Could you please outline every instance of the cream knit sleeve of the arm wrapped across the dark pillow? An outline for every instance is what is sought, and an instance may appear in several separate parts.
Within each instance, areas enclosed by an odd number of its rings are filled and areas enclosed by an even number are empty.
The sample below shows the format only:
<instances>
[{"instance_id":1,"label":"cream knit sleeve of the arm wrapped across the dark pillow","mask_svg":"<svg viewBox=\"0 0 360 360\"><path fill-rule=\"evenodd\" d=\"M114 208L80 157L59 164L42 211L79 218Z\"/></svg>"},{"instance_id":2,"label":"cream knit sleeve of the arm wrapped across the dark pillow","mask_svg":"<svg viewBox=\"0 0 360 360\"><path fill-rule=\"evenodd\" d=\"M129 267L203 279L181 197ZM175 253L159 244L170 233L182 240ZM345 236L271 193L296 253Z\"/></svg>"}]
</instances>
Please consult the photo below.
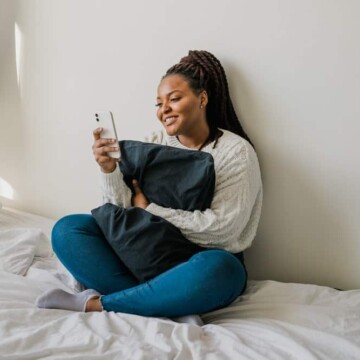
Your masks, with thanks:
<instances>
[{"instance_id":1,"label":"cream knit sleeve of the arm wrapped across the dark pillow","mask_svg":"<svg viewBox=\"0 0 360 360\"><path fill-rule=\"evenodd\" d=\"M246 154L242 151L231 158L227 155L221 161L209 209L190 212L151 203L146 210L168 220L187 239L200 246L242 251L247 245L239 244L239 238L253 213L256 199L261 197L257 159L252 159L251 154L248 156L247 149L243 150Z\"/></svg>"}]
</instances>

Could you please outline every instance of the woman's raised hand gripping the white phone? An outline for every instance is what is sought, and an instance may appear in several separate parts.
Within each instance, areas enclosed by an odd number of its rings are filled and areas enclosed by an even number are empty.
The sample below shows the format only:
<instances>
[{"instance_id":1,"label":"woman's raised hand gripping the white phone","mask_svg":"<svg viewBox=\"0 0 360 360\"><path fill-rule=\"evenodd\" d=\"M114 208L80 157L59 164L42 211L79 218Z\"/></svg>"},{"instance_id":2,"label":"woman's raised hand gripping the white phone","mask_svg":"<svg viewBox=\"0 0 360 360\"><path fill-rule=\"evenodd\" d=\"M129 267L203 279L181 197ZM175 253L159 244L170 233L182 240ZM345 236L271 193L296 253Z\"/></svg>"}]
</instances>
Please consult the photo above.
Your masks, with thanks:
<instances>
[{"instance_id":1,"label":"woman's raised hand gripping the white phone","mask_svg":"<svg viewBox=\"0 0 360 360\"><path fill-rule=\"evenodd\" d=\"M108 174L116 169L116 163L119 161L119 159L108 156L108 152L119 151L119 148L115 139L101 138L100 134L102 131L102 128L97 128L93 131L94 144L92 149L95 160L99 164L101 171Z\"/></svg>"}]
</instances>

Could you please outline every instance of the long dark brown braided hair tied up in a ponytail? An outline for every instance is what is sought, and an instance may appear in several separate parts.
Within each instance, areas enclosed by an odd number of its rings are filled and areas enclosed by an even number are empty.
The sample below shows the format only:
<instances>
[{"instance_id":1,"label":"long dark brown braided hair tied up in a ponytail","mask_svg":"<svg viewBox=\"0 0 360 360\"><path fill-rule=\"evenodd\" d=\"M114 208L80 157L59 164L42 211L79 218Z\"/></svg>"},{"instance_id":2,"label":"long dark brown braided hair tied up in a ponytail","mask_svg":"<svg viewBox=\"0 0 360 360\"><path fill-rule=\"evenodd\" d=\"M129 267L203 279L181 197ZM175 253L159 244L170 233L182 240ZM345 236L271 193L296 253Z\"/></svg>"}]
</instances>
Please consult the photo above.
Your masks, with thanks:
<instances>
[{"instance_id":1,"label":"long dark brown braided hair tied up in a ponytail","mask_svg":"<svg viewBox=\"0 0 360 360\"><path fill-rule=\"evenodd\" d=\"M216 146L222 135L219 128L240 135L253 145L235 113L224 68L214 55L208 51L190 50L178 64L167 70L163 79L169 75L184 77L197 95L204 90L207 92L206 119L210 133L203 146L214 140Z\"/></svg>"}]
</instances>

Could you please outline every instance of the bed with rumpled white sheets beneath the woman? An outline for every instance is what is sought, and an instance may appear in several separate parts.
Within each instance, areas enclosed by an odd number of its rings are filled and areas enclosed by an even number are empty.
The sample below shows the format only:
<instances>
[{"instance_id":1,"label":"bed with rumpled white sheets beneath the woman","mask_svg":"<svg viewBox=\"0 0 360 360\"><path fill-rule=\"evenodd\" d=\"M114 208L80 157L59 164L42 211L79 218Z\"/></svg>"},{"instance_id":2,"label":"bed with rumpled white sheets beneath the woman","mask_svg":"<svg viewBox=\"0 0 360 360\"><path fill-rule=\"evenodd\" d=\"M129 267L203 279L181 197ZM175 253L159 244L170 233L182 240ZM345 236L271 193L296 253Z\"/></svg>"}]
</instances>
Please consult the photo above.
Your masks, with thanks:
<instances>
[{"instance_id":1,"label":"bed with rumpled white sheets beneath the woman","mask_svg":"<svg viewBox=\"0 0 360 360\"><path fill-rule=\"evenodd\" d=\"M54 220L0 209L0 359L360 359L360 290L249 281L203 326L34 305L81 285L53 255Z\"/></svg>"}]
</instances>

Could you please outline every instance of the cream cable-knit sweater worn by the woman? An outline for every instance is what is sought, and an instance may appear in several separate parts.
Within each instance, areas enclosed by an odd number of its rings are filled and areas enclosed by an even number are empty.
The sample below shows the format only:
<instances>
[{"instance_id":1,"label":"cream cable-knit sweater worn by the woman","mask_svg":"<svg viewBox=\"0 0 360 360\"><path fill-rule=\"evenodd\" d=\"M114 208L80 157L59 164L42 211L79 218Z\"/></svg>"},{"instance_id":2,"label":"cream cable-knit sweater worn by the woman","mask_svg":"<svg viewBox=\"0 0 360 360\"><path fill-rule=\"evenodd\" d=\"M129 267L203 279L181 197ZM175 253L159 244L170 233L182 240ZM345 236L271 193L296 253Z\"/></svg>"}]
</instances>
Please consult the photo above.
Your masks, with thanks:
<instances>
[{"instance_id":1,"label":"cream cable-knit sweater worn by the woman","mask_svg":"<svg viewBox=\"0 0 360 360\"><path fill-rule=\"evenodd\" d=\"M210 143L202 149L214 158L216 182L211 208L184 211L151 203L146 210L168 220L199 246L237 253L248 248L255 237L261 213L262 183L252 146L240 136L222 131L215 148L214 143ZM175 136L162 131L153 133L145 141L188 149ZM119 167L111 174L101 174L104 203L131 206L131 191Z\"/></svg>"}]
</instances>

